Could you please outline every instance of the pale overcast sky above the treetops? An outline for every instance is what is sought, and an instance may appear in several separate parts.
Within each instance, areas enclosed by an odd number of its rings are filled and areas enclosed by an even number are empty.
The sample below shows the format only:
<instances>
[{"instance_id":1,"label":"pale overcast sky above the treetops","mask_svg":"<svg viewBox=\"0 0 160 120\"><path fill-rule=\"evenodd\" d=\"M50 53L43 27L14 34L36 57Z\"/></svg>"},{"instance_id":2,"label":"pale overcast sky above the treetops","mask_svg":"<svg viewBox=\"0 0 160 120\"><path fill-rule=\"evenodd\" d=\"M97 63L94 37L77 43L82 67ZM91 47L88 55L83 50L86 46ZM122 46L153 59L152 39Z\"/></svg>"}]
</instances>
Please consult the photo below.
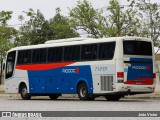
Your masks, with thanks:
<instances>
[{"instance_id":1,"label":"pale overcast sky above the treetops","mask_svg":"<svg viewBox=\"0 0 160 120\"><path fill-rule=\"evenodd\" d=\"M78 0L0 0L0 11L13 11L12 19L8 22L9 25L18 27L19 15L24 15L22 11L39 9L46 19L50 19L55 15L55 9L59 7L64 16L68 16L68 8L76 6ZM83 0L81 0L83 1ZM109 5L109 0L88 0L94 8L103 8ZM127 4L127 0L119 0L120 4ZM158 2L159 0L151 0Z\"/></svg>"}]
</instances>

